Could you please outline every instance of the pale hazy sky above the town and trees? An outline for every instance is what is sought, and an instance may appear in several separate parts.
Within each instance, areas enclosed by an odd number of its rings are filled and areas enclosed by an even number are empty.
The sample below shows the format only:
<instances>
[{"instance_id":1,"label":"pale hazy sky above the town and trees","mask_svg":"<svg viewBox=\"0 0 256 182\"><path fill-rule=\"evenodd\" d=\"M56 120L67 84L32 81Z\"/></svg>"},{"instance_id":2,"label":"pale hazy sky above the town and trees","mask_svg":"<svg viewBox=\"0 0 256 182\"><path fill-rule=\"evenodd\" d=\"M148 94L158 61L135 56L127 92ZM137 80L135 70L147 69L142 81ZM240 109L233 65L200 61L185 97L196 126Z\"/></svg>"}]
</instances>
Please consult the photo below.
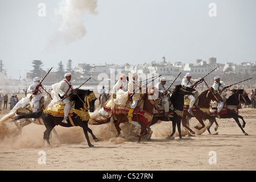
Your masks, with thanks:
<instances>
[{"instance_id":1,"label":"pale hazy sky above the town and trees","mask_svg":"<svg viewBox=\"0 0 256 182\"><path fill-rule=\"evenodd\" d=\"M42 60L43 69L55 71L60 60L66 68L68 59L73 67L142 64L163 56L171 63L208 63L209 57L217 57L217 63L256 61L255 0L98 0L94 13L76 22L86 34L72 32L80 35L69 43L56 33L65 29L60 2L0 0L0 60L9 77L24 78L32 60ZM38 15L39 3L44 3L46 16ZM210 3L216 4L217 16L209 16Z\"/></svg>"}]
</instances>

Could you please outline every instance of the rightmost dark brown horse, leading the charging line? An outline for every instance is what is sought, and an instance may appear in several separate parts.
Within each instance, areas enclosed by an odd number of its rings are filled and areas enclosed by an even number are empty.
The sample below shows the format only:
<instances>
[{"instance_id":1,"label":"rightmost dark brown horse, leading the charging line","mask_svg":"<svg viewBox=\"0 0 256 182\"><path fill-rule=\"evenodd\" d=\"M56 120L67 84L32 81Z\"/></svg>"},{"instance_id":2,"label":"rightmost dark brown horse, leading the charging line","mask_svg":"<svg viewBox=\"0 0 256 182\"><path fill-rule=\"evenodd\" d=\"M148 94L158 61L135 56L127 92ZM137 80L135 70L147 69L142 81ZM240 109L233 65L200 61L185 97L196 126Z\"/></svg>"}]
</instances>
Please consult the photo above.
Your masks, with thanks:
<instances>
[{"instance_id":1,"label":"rightmost dark brown horse, leading the charging line","mask_svg":"<svg viewBox=\"0 0 256 182\"><path fill-rule=\"evenodd\" d=\"M251 100L248 97L248 94L245 92L243 89L234 89L234 93L229 96L226 100L226 104L222 108L220 112L220 118L233 118L236 122L237 125L240 127L242 130L242 133L245 135L248 135L243 128L245 127L245 120L241 115L238 115L238 109L240 109L240 104L241 102L244 102L246 105L251 104ZM217 116L215 116L217 117ZM241 123L239 122L239 119L242 119L243 125L241 126ZM210 127L212 126L213 121L210 120L209 124L207 125L207 130L210 134Z\"/></svg>"}]
</instances>

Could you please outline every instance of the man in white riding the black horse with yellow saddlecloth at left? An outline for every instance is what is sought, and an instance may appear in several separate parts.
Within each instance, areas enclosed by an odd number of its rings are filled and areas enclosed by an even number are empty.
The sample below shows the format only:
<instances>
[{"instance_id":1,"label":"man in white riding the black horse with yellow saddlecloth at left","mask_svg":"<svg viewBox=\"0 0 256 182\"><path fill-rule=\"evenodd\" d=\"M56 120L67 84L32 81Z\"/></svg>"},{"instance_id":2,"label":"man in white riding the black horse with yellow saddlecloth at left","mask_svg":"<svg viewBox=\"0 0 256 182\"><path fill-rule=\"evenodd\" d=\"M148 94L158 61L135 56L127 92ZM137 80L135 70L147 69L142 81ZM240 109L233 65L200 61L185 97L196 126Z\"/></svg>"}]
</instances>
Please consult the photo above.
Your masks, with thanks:
<instances>
[{"instance_id":1,"label":"man in white riding the black horse with yellow saddlecloth at left","mask_svg":"<svg viewBox=\"0 0 256 182\"><path fill-rule=\"evenodd\" d=\"M60 98L65 98L63 100L64 106L64 119L63 123L68 123L67 118L68 118L68 113L71 108L71 102L69 100L69 94L73 92L73 86L71 85L71 73L65 73L65 79L61 80L59 82L59 85L57 87L57 92L59 93Z\"/></svg>"}]
</instances>

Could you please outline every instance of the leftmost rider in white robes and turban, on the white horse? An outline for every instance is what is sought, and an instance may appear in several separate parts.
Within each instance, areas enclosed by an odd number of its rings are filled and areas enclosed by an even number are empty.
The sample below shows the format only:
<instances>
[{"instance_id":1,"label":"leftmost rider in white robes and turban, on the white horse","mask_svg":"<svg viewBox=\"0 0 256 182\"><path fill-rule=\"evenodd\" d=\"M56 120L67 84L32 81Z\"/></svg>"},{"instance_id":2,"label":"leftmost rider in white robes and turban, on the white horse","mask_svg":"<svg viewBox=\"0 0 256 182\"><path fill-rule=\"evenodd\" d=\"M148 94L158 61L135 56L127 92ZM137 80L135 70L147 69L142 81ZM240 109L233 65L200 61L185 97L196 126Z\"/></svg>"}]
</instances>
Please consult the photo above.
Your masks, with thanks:
<instances>
[{"instance_id":1,"label":"leftmost rider in white robes and turban, on the white horse","mask_svg":"<svg viewBox=\"0 0 256 182\"><path fill-rule=\"evenodd\" d=\"M42 89L42 85L40 84L40 78L35 77L33 79L33 84L31 84L27 89L27 93L31 94L30 105L31 105L31 107L34 106L34 108L32 110L33 113L35 113L39 109L40 101L43 97L42 91L43 91L43 89ZM32 121L35 121L35 118L32 118Z\"/></svg>"}]
</instances>

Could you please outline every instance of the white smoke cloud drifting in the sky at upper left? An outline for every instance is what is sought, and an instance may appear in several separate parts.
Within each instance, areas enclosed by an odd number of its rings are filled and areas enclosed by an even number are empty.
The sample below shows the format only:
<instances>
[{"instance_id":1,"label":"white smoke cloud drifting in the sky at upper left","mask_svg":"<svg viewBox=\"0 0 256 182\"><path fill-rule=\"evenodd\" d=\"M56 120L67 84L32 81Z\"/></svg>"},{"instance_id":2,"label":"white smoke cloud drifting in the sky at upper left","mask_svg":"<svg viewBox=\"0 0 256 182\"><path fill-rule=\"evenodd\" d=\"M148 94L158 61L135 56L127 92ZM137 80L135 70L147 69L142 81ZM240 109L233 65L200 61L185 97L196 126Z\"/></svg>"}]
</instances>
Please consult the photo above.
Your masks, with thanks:
<instances>
[{"instance_id":1,"label":"white smoke cloud drifting in the sky at upper left","mask_svg":"<svg viewBox=\"0 0 256 182\"><path fill-rule=\"evenodd\" d=\"M51 36L47 48L70 44L86 34L82 17L86 12L97 15L97 0L63 0L55 14L61 16L61 25Z\"/></svg>"}]
</instances>

